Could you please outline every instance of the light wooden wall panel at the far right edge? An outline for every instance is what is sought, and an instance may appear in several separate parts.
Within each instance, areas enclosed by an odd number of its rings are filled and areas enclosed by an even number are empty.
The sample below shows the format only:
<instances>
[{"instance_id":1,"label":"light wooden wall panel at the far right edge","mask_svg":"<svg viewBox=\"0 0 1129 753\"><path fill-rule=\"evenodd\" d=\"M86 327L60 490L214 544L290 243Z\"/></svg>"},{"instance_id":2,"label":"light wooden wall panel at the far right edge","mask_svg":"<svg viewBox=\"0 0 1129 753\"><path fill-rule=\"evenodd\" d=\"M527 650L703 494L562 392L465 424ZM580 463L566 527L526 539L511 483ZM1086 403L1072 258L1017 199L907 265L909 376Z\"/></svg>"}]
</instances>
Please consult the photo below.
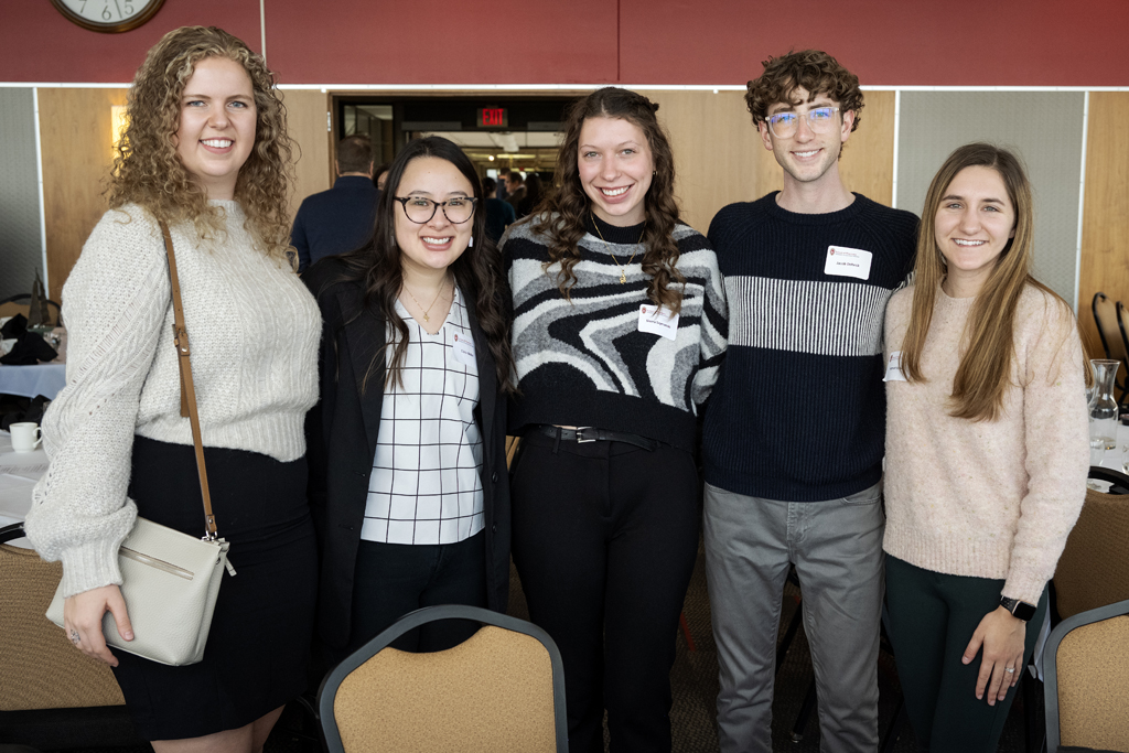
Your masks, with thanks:
<instances>
[{"instance_id":1,"label":"light wooden wall panel at the far right edge","mask_svg":"<svg viewBox=\"0 0 1129 753\"><path fill-rule=\"evenodd\" d=\"M1091 301L1097 291L1129 306L1129 91L1092 91L1082 218L1078 321L1091 358L1104 358ZM1124 375L1119 375L1124 376Z\"/></svg>"}]
</instances>

